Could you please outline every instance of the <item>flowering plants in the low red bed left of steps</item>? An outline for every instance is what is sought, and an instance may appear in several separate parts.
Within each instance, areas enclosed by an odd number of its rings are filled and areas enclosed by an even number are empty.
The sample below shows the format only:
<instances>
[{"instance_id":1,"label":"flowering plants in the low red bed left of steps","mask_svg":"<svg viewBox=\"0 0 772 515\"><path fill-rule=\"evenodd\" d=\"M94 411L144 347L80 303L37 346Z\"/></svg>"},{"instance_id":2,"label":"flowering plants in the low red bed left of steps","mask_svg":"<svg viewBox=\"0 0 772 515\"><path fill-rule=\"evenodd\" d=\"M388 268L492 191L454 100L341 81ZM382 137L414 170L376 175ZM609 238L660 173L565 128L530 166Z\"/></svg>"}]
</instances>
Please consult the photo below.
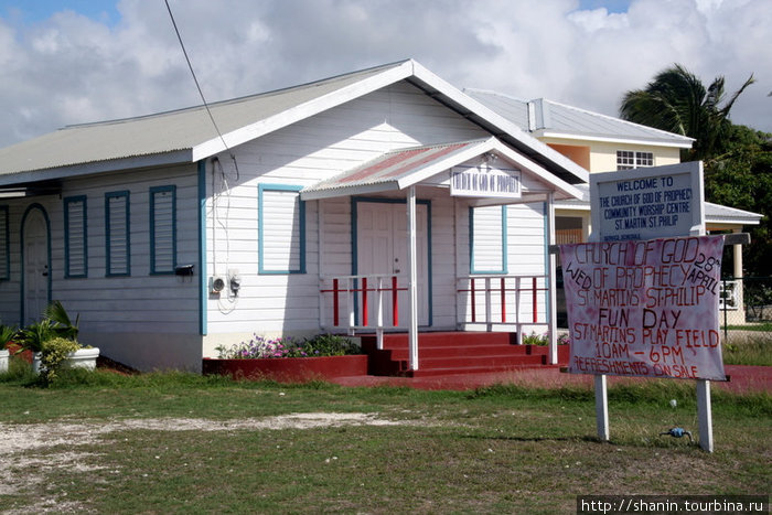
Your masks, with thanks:
<instances>
[{"instance_id":1,"label":"flowering plants in the low red bed left of steps","mask_svg":"<svg viewBox=\"0 0 772 515\"><path fill-rule=\"evenodd\" d=\"M321 357L360 354L351 341L332 334L319 334L298 342L291 337L269 340L258 334L248 342L215 347L219 360L254 360L265 357Z\"/></svg>"}]
</instances>

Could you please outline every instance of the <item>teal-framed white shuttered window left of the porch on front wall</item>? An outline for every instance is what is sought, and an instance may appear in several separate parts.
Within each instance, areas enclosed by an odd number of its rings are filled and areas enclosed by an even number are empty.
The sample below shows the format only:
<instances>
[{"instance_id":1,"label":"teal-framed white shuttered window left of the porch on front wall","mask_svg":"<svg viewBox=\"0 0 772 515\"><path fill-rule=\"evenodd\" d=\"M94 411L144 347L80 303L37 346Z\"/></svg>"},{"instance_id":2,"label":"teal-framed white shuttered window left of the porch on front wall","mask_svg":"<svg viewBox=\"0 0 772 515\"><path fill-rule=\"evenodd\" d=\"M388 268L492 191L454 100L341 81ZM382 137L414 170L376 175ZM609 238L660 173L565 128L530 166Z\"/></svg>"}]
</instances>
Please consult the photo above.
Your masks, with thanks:
<instances>
[{"instance_id":1,"label":"teal-framed white shuttered window left of the porch on front wall","mask_svg":"<svg viewBox=\"0 0 772 515\"><path fill-rule=\"evenodd\" d=\"M305 203L302 186L258 186L260 273L305 273Z\"/></svg>"}]
</instances>

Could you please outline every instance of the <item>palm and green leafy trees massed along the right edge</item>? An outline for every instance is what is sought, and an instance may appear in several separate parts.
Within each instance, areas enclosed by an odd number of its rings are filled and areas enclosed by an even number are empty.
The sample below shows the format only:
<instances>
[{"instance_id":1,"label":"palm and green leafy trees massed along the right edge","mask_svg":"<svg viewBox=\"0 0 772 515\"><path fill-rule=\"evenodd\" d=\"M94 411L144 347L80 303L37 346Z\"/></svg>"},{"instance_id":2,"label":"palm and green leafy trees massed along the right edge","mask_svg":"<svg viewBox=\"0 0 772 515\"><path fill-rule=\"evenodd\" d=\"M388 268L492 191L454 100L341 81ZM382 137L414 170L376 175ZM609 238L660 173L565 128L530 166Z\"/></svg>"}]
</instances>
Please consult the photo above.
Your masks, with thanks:
<instances>
[{"instance_id":1,"label":"palm and green leafy trees massed along the right edge","mask_svg":"<svg viewBox=\"0 0 772 515\"><path fill-rule=\"evenodd\" d=\"M699 77L675 64L655 75L644 89L625 93L620 116L695 139L682 160L705 162L706 200L763 215L759 226L747 227L751 246L743 249L743 268L748 275L772 276L772 135L736 126L729 119L735 101L753 82L751 75L726 98L722 76L706 87Z\"/></svg>"}]
</instances>

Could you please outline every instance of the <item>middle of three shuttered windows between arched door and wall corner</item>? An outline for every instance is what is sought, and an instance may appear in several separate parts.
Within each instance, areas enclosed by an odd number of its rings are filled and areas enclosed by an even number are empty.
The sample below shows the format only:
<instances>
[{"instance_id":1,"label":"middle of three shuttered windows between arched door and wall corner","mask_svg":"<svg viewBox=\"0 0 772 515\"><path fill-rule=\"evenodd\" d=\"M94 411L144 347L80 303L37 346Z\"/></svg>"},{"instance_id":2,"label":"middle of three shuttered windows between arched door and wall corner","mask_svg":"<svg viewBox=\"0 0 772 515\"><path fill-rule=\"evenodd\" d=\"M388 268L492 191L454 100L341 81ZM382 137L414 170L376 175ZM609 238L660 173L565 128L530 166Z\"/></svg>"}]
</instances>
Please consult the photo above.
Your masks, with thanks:
<instances>
[{"instance_id":1,"label":"middle of three shuttered windows between arched door and wall corner","mask_svg":"<svg viewBox=\"0 0 772 515\"><path fill-rule=\"evenodd\" d=\"M105 194L106 275L131 273L129 192Z\"/></svg>"}]
</instances>

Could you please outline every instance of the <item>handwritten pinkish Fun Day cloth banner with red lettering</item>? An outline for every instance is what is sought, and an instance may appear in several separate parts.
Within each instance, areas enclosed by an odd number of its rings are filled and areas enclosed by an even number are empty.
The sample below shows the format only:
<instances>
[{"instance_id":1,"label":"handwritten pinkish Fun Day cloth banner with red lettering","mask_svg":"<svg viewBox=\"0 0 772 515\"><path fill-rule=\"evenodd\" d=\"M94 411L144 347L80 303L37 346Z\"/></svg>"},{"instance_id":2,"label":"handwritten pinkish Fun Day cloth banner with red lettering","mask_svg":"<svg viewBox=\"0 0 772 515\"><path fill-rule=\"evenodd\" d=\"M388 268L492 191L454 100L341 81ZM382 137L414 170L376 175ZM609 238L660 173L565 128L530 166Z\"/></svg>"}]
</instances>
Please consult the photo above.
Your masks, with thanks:
<instances>
[{"instance_id":1,"label":"handwritten pinkish Fun Day cloth banner with red lettering","mask_svg":"<svg viewBox=\"0 0 772 515\"><path fill-rule=\"evenodd\" d=\"M560 246L575 374L726 380L722 236Z\"/></svg>"}]
</instances>

